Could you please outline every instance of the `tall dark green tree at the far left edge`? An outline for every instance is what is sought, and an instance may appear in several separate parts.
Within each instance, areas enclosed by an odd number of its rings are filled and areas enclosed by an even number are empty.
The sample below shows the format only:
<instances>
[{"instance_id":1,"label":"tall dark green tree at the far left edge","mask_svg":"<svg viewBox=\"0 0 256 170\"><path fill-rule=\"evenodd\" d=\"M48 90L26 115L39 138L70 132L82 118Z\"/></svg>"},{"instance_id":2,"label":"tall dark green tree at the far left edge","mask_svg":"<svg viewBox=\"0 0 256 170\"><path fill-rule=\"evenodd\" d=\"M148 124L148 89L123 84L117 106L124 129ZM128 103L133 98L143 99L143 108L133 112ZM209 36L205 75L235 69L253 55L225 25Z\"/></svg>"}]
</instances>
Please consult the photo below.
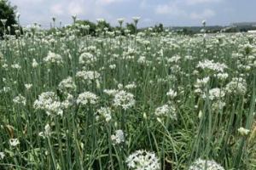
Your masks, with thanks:
<instances>
[{"instance_id":1,"label":"tall dark green tree at the far left edge","mask_svg":"<svg viewBox=\"0 0 256 170\"><path fill-rule=\"evenodd\" d=\"M11 33L14 34L15 30L13 25L17 24L15 18L16 6L11 6L9 0L0 0L0 20L7 20L5 27L10 26ZM3 36L3 22L0 21L0 35Z\"/></svg>"}]
</instances>

